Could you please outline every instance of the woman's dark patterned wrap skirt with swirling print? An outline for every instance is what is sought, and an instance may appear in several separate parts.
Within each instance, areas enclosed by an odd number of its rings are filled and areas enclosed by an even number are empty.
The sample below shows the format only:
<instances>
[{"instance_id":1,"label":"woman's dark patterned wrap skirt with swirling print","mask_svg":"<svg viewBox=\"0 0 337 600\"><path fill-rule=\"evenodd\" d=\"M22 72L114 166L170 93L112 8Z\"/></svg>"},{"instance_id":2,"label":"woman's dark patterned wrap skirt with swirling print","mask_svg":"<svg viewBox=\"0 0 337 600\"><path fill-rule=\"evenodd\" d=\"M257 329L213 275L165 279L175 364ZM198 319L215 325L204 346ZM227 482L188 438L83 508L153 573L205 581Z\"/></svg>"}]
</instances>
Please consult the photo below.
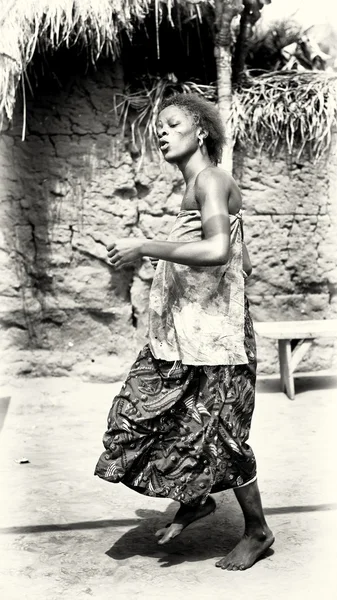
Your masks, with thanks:
<instances>
[{"instance_id":1,"label":"woman's dark patterned wrap skirt with swirling print","mask_svg":"<svg viewBox=\"0 0 337 600\"><path fill-rule=\"evenodd\" d=\"M247 444L256 346L245 306L245 365L196 367L138 355L108 415L95 475L186 504L256 478Z\"/></svg>"}]
</instances>

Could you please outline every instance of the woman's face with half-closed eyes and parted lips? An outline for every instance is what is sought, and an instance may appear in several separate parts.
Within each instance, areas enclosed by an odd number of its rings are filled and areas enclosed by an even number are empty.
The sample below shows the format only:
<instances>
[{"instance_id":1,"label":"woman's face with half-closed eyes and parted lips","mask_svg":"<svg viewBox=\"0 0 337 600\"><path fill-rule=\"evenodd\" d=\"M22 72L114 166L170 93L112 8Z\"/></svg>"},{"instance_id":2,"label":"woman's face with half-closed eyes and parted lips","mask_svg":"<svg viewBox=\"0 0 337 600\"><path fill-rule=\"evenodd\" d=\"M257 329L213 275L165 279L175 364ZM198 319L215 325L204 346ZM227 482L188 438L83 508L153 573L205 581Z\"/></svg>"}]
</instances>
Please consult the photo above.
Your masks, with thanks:
<instances>
[{"instance_id":1,"label":"woman's face with half-closed eyes and parted lips","mask_svg":"<svg viewBox=\"0 0 337 600\"><path fill-rule=\"evenodd\" d=\"M179 163L198 148L198 131L193 116L178 106L167 106L159 114L157 136L161 152L169 163Z\"/></svg>"}]
</instances>

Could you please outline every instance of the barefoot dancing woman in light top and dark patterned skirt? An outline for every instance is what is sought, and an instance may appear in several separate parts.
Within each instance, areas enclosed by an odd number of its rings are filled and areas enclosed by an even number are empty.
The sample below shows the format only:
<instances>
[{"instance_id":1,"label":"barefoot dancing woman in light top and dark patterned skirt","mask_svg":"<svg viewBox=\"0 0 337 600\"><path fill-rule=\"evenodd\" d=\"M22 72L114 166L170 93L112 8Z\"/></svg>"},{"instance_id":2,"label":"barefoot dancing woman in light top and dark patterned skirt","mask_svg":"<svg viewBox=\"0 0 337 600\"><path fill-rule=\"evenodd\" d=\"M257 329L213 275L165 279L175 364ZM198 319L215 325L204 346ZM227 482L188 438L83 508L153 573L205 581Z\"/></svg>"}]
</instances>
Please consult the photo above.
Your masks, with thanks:
<instances>
[{"instance_id":1,"label":"barefoot dancing woman in light top and dark patterned skirt","mask_svg":"<svg viewBox=\"0 0 337 600\"><path fill-rule=\"evenodd\" d=\"M144 256L158 264L149 343L114 399L95 474L180 502L173 522L157 532L159 544L213 512L211 492L233 489L245 532L217 566L244 570L274 538L247 444L256 351L244 296L250 263L241 194L217 166L224 135L211 103L193 94L166 99L157 135L186 189L168 241L123 238L108 246L116 269Z\"/></svg>"}]
</instances>

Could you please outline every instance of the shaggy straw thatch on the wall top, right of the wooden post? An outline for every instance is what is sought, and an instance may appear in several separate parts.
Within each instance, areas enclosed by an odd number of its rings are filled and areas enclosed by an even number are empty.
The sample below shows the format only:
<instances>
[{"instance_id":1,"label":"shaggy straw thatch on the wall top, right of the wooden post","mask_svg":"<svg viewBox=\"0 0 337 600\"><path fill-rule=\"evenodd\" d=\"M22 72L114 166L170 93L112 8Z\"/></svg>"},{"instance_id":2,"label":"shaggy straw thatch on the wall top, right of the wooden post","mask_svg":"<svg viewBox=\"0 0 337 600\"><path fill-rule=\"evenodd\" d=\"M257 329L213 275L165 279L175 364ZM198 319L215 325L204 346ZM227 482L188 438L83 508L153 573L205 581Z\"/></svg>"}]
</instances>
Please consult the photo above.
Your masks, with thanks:
<instances>
[{"instance_id":1,"label":"shaggy straw thatch on the wall top, right of the wooden post","mask_svg":"<svg viewBox=\"0 0 337 600\"><path fill-rule=\"evenodd\" d=\"M233 95L233 129L243 146L285 148L314 161L329 148L337 125L337 74L322 71L266 73Z\"/></svg>"}]
</instances>

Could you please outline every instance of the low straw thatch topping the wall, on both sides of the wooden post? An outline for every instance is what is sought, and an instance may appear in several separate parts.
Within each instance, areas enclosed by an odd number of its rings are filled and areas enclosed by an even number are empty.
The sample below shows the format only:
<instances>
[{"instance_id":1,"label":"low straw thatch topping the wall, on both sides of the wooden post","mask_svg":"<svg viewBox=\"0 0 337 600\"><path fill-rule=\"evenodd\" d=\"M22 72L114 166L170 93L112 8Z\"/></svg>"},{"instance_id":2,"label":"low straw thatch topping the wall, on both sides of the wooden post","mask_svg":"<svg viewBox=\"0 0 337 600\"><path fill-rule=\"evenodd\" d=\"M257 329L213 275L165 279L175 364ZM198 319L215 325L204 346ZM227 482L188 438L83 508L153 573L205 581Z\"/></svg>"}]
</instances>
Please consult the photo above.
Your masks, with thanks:
<instances>
[{"instance_id":1,"label":"low straw thatch topping the wall, on both sides of the wooden post","mask_svg":"<svg viewBox=\"0 0 337 600\"><path fill-rule=\"evenodd\" d=\"M234 143L275 152L286 149L299 159L304 151L317 161L329 148L337 125L337 75L321 71L272 72L248 80L233 93ZM215 85L179 82L173 74L141 82L139 89L116 97L116 111L141 156L156 150L156 120L163 98L174 92L197 93L216 101Z\"/></svg>"}]
</instances>

